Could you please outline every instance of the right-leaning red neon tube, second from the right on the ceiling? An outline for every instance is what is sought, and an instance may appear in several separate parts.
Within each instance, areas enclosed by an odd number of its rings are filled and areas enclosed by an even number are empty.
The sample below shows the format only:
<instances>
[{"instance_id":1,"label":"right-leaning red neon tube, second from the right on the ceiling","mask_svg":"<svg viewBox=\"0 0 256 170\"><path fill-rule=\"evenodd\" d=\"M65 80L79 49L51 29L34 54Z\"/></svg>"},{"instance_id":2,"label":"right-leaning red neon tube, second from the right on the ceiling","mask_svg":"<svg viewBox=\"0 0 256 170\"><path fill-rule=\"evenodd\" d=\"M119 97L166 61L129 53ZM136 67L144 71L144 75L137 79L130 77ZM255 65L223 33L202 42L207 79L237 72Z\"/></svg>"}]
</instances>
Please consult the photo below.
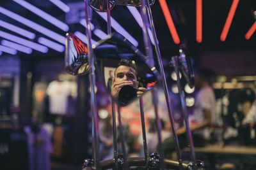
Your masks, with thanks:
<instances>
[{"instance_id":1,"label":"right-leaning red neon tube, second from the right on the ceiling","mask_svg":"<svg viewBox=\"0 0 256 170\"><path fill-rule=\"evenodd\" d=\"M233 0L233 2L232 2L230 11L228 13L227 20L226 20L225 25L223 27L223 30L221 32L221 36L220 36L220 40L221 41L225 41L226 38L227 38L228 30L229 30L231 22L232 22L232 20L234 18L234 15L235 15L238 3L239 3L239 0Z\"/></svg>"}]
</instances>

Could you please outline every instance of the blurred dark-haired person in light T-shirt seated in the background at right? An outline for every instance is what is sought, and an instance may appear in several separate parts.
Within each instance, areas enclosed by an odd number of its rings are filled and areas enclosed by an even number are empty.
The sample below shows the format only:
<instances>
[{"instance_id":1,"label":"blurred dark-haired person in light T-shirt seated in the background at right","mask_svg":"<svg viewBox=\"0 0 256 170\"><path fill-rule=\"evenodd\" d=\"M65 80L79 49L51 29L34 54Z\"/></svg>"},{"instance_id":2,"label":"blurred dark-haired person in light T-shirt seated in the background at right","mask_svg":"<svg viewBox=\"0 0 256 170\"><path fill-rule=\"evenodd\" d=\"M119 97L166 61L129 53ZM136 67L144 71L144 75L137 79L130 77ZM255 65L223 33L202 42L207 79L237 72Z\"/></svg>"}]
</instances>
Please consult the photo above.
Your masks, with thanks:
<instances>
[{"instance_id":1,"label":"blurred dark-haired person in light T-shirt seated in the background at right","mask_svg":"<svg viewBox=\"0 0 256 170\"><path fill-rule=\"evenodd\" d=\"M195 97L195 108L193 114L189 116L189 127L192 131L195 146L205 146L211 139L211 122L214 117L215 95L211 87L215 74L211 69L200 68L195 71L195 88L198 90ZM186 138L186 128L177 130L180 148L188 146ZM164 154L172 158L175 152L175 142L173 136L163 142Z\"/></svg>"}]
</instances>

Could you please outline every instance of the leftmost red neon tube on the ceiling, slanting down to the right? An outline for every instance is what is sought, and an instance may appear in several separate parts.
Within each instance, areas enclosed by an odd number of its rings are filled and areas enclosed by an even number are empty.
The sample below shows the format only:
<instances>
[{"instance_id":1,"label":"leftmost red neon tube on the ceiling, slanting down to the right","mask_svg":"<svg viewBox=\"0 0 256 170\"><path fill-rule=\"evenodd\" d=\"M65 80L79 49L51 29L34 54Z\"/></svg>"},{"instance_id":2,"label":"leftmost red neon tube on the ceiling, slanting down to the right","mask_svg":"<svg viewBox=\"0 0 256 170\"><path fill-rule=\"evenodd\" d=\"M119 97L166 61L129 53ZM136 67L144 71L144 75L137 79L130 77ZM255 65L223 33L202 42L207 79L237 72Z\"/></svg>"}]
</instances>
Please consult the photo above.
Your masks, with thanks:
<instances>
[{"instance_id":1,"label":"leftmost red neon tube on the ceiling, slanting down to the right","mask_svg":"<svg viewBox=\"0 0 256 170\"><path fill-rule=\"evenodd\" d=\"M171 16L171 13L168 9L166 1L165 0L159 0L159 3L160 3L160 6L162 8L162 11L164 13L164 18L166 20L166 23L169 27L169 30L170 30L171 34L172 34L173 41L174 41L175 44L179 44L180 43L180 38L179 38L178 33L175 29L175 25L173 23L172 16Z\"/></svg>"}]
</instances>

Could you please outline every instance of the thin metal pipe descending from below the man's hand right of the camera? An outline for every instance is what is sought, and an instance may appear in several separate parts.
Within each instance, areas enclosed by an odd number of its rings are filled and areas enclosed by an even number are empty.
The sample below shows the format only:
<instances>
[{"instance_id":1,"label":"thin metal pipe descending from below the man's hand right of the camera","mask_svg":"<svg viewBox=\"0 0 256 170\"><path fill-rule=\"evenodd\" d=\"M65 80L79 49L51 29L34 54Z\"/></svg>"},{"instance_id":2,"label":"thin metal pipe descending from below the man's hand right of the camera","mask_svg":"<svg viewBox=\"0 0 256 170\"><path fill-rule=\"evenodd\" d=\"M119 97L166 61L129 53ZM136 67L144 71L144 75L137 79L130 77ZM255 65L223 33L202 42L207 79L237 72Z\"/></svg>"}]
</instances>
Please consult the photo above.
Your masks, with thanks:
<instances>
[{"instance_id":1,"label":"thin metal pipe descending from below the man's hand right of the camera","mask_svg":"<svg viewBox=\"0 0 256 170\"><path fill-rule=\"evenodd\" d=\"M145 117L144 117L142 96L140 97L140 117L141 117L141 127L142 127L145 164L146 164L146 168L148 169L148 148L147 148L147 136L146 136Z\"/></svg>"}]
</instances>

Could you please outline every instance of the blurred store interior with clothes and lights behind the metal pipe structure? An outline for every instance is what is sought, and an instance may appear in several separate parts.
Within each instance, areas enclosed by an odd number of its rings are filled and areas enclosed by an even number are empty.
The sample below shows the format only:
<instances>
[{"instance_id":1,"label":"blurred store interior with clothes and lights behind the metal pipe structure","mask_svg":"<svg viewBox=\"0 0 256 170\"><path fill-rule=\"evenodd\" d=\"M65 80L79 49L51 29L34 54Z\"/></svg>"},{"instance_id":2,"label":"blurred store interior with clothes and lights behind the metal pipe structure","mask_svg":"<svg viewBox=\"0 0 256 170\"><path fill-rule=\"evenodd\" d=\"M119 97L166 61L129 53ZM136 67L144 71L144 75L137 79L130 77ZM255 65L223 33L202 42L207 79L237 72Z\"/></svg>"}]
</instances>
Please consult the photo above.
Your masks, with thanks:
<instances>
[{"instance_id":1,"label":"blurred store interior with clothes and lights behind the metal pipe structure","mask_svg":"<svg viewBox=\"0 0 256 170\"><path fill-rule=\"evenodd\" d=\"M156 147L159 146L153 100L156 96L163 146L166 144L164 139L173 138L172 120L177 131L184 126L184 103L180 99L179 80L188 115L193 115L196 109L196 96L200 89L195 85L189 87L182 71L177 79L172 62L173 56L180 55L180 45L185 45L193 73L199 68L214 73L211 80L215 101L214 117L209 125L211 138L204 146L194 143L196 160L204 161L205 169L253 169L256 166L256 1L172 0L166 1L165 11L162 9L163 1L150 1L150 9L172 118L168 114L166 91L161 81L163 77L157 79L161 67L157 65L159 60L152 30L148 31L151 35L148 41L152 45L154 61L148 64L143 58L136 60L139 87L148 87L142 97L148 155L157 151ZM95 127L91 77L89 73L70 74L65 59L68 48L65 36L68 32L74 33L84 45L88 43L84 2L0 2L0 169L75 170L83 169L84 160L93 159L96 144L93 142ZM112 33L124 36L127 39L125 45L136 55L147 56L141 8L110 2ZM198 14L200 2L201 15ZM174 27L168 25L170 18L165 18L167 11ZM113 39L107 36L107 13L91 7L88 13L92 23L91 43L100 47L108 43L102 39L112 42ZM200 16L201 34L198 29ZM115 73L117 59L122 58L116 58L117 51L129 55L130 51L125 51L128 49L125 45L98 48L98 51L96 48L93 51L99 161L114 157L113 110L108 79L111 78L111 71ZM156 66L157 74L149 67L152 63ZM156 96L151 93L153 89L157 92ZM127 157L145 157L139 98L122 106L120 112ZM116 117L117 127L118 121ZM124 153L120 136L117 135L118 153ZM177 138L181 143L188 141L179 134ZM185 163L191 161L191 150L187 144L180 148ZM166 159L178 161L177 151L164 152ZM145 166L133 168L147 169Z\"/></svg>"}]
</instances>

